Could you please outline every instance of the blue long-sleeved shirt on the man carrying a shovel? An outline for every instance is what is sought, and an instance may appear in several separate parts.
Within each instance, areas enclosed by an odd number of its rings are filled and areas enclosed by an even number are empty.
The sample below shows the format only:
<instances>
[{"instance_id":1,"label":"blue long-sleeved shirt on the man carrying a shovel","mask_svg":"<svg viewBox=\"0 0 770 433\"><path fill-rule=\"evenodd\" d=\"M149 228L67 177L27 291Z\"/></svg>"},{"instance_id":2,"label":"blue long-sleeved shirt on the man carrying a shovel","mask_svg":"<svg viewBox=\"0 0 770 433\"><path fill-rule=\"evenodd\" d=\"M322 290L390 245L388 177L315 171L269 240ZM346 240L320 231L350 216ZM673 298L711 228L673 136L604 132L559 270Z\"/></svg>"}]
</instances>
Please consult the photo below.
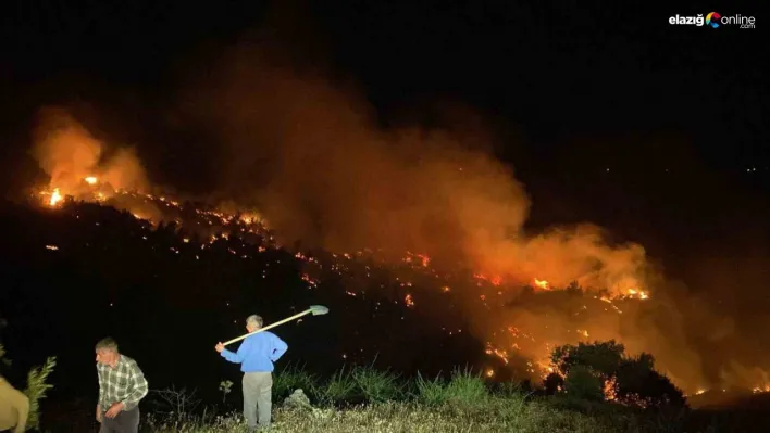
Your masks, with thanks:
<instances>
[{"instance_id":1,"label":"blue long-sleeved shirt on the man carrying a shovel","mask_svg":"<svg viewBox=\"0 0 770 433\"><path fill-rule=\"evenodd\" d=\"M272 332L249 335L240 343L237 353L222 351L222 357L234 364L240 364L240 371L273 371L273 362L278 360L288 345Z\"/></svg>"}]
</instances>

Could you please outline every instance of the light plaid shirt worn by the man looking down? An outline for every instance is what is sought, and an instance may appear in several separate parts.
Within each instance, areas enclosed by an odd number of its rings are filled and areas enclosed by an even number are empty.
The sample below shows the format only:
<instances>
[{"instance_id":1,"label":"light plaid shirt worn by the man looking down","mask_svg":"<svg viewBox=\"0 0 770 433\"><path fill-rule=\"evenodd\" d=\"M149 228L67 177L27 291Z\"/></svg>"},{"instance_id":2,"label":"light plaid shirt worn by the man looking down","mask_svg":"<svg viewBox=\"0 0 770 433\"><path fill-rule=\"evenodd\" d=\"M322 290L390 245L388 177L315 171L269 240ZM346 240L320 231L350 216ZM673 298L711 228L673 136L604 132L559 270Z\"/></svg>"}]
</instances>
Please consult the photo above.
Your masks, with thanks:
<instances>
[{"instance_id":1,"label":"light plaid shirt worn by the man looking down","mask_svg":"<svg viewBox=\"0 0 770 433\"><path fill-rule=\"evenodd\" d=\"M97 364L97 372L101 410L109 409L115 403L123 403L124 410L132 410L147 395L145 374L136 361L125 355L120 355L115 368Z\"/></svg>"}]
</instances>

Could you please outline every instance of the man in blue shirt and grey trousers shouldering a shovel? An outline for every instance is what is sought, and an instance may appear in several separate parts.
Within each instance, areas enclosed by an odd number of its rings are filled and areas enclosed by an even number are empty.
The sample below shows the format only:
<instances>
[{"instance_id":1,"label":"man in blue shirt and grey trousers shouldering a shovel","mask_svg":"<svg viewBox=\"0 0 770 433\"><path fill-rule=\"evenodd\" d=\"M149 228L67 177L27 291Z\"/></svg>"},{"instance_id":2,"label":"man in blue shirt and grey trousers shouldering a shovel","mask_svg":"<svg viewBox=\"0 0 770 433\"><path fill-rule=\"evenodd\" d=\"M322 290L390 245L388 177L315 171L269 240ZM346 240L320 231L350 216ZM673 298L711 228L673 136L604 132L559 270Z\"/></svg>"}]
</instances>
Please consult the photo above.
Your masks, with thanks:
<instances>
[{"instance_id":1,"label":"man in blue shirt and grey trousers shouldering a shovel","mask_svg":"<svg viewBox=\"0 0 770 433\"><path fill-rule=\"evenodd\" d=\"M251 315L246 319L246 330L254 332L262 328L262 318ZM272 332L260 332L247 336L237 353L216 344L216 352L223 358L234 364L240 364L244 372L244 417L249 430L257 430L257 409L259 408L259 425L270 425L273 391L273 362L277 361L288 346Z\"/></svg>"}]
</instances>

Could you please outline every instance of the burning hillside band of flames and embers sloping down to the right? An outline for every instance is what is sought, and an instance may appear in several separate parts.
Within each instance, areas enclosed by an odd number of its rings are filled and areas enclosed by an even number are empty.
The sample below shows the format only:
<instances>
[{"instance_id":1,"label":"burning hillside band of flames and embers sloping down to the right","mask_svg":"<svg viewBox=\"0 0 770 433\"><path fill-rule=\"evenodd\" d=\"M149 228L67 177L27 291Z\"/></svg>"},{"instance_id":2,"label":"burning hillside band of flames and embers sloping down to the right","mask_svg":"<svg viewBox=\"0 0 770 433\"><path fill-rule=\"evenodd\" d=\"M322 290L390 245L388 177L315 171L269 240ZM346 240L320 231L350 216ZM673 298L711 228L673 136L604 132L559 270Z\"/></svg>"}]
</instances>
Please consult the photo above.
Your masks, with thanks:
<instances>
[{"instance_id":1,"label":"burning hillside band of flames and embers sloping down to the right","mask_svg":"<svg viewBox=\"0 0 770 433\"><path fill-rule=\"evenodd\" d=\"M269 230L254 213L228 214L165 196L108 191L99 184L98 178L84 178L83 181L91 188L90 192L83 187L78 189L79 195L73 196L60 189L57 195L57 188L53 188L38 191L35 200L51 209L60 209L73 200L95 202L126 209L151 225L174 222L186 233L183 243L196 246L196 241L190 239L195 237L198 247L206 250L216 242L228 242L227 251L240 258L270 249L285 249L276 242L275 232ZM138 208L154 209L157 216L147 218ZM239 247L234 247L232 242ZM59 250L57 245L46 247ZM181 252L178 249L171 251L172 254ZM486 374L490 378L506 372L505 377L514 374L538 381L554 372L549 355L556 346L614 339L628 344L632 351L658 355L661 367L685 389L687 383L699 383L691 381L692 375L686 375L686 368L681 367L692 359L686 352L667 347L667 336L655 329L645 332L636 327L638 317L654 315L660 307L646 291L630 290L623 295L606 290L584 292L574 283L568 288L552 288L545 279L533 279L522 288L501 277L490 278L472 270L440 271L431 266L430 256L411 252L406 252L396 262L389 259L392 254L382 250L351 253L313 250L312 253L295 251L293 254L301 265L300 278L308 290L318 289L330 275L334 275L341 279L346 294L356 300L365 300L368 293L385 295L402 308L429 308L429 315L437 322L445 322L450 317L449 311L470 318L471 329L455 329L449 323L444 329L447 335L471 332L488 339ZM474 295L469 296L469 293ZM662 349L656 353L655 347ZM663 356L659 356L661 353ZM675 354L682 361L667 358L668 353ZM746 377L740 382L746 380L752 379ZM752 383L755 383L754 392L767 390L766 381Z\"/></svg>"}]
</instances>

